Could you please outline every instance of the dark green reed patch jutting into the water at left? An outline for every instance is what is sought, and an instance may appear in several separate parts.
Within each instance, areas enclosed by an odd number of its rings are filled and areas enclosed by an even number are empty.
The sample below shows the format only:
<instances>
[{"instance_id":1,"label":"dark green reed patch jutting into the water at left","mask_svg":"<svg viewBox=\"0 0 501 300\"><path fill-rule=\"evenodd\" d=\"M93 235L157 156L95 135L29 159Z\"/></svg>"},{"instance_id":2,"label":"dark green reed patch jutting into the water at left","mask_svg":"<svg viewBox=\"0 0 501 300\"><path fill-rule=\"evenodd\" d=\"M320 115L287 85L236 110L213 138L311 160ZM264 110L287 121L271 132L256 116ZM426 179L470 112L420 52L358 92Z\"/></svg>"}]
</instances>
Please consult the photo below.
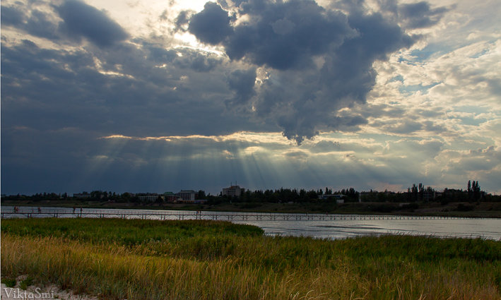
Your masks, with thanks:
<instances>
[{"instance_id":1,"label":"dark green reed patch jutting into the water at left","mask_svg":"<svg viewBox=\"0 0 501 300\"><path fill-rule=\"evenodd\" d=\"M208 220L159 222L122 219L11 219L4 220L1 231L20 236L57 236L91 243L143 244L175 241L194 236L261 236L263 230L250 225Z\"/></svg>"}]
</instances>

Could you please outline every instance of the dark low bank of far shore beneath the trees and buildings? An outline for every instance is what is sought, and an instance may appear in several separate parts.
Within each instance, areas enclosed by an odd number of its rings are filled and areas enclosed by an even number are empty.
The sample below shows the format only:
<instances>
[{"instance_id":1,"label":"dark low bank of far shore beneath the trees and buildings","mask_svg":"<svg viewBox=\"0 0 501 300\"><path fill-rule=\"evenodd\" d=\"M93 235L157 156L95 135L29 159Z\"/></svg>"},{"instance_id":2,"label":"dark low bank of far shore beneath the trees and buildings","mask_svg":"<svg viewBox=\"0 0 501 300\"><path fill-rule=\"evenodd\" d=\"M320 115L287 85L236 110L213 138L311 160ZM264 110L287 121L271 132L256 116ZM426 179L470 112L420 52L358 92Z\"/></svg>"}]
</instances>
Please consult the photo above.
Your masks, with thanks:
<instances>
[{"instance_id":1,"label":"dark low bank of far shore beneath the trees and buildings","mask_svg":"<svg viewBox=\"0 0 501 300\"><path fill-rule=\"evenodd\" d=\"M223 212L328 213L360 215L429 215L501 217L501 203L115 203L90 200L1 200L2 206L60 208L119 208L130 210L202 210Z\"/></svg>"}]
</instances>

